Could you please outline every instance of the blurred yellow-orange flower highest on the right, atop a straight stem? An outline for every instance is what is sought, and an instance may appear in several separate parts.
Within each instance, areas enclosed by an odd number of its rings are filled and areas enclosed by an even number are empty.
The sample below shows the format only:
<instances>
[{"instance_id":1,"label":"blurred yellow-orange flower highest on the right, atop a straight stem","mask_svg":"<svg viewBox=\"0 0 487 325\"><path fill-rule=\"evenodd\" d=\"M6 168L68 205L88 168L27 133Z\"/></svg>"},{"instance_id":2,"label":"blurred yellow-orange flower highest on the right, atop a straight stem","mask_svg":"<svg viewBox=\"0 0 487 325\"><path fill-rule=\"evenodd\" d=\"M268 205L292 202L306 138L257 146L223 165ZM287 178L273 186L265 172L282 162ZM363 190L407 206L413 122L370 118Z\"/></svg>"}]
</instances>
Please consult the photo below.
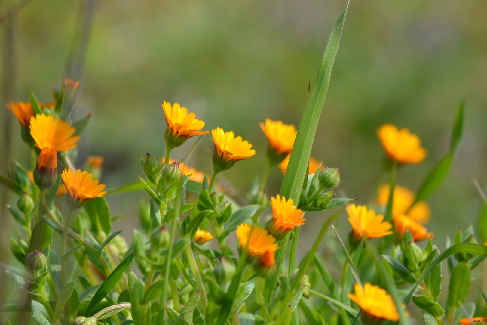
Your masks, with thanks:
<instances>
[{"instance_id":1,"label":"blurred yellow-orange flower highest on the right, atop a straight stem","mask_svg":"<svg viewBox=\"0 0 487 325\"><path fill-rule=\"evenodd\" d=\"M377 129L377 136L389 158L399 164L417 164L426 157L419 137L406 128L398 130L393 124L384 124Z\"/></svg>"}]
</instances>

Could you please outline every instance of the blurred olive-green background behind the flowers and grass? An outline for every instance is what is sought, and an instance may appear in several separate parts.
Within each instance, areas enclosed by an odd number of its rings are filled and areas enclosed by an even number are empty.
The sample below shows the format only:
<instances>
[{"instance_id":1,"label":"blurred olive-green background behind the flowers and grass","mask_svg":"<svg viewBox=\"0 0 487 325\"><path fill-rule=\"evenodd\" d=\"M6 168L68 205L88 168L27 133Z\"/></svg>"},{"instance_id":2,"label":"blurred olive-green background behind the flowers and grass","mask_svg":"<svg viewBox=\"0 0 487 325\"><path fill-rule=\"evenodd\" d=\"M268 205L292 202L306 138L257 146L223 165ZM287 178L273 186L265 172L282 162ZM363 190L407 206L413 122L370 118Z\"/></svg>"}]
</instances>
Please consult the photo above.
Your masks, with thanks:
<instances>
[{"instance_id":1,"label":"blurred olive-green background behind the flowers and grass","mask_svg":"<svg viewBox=\"0 0 487 325\"><path fill-rule=\"evenodd\" d=\"M15 1L3 1L2 11ZM16 20L17 91L50 101L51 86L65 76L80 1L33 0ZM259 122L269 117L299 125L312 82L343 0L101 0L80 78L74 119L94 114L76 162L101 155L101 182L137 180L139 155L165 152L161 103L178 102L206 122L234 131L253 144L254 157L220 176L242 203L262 171L267 140ZM480 197L471 178L487 182L487 2L485 0L352 0L333 68L312 154L340 166L340 195L367 203L381 172L383 153L375 135L392 122L418 134L428 157L398 173L416 191L447 153L456 106L466 100L464 137L448 177L428 202L429 229L440 249L457 227L476 222ZM2 36L3 38L3 36ZM29 153L14 126L14 158ZM194 140L173 152L183 158ZM211 172L210 135L190 166ZM272 173L270 193L282 175ZM126 213L114 228L138 225L145 194L109 196L112 214ZM308 247L321 224L307 216ZM342 231L348 223L340 218Z\"/></svg>"}]
</instances>

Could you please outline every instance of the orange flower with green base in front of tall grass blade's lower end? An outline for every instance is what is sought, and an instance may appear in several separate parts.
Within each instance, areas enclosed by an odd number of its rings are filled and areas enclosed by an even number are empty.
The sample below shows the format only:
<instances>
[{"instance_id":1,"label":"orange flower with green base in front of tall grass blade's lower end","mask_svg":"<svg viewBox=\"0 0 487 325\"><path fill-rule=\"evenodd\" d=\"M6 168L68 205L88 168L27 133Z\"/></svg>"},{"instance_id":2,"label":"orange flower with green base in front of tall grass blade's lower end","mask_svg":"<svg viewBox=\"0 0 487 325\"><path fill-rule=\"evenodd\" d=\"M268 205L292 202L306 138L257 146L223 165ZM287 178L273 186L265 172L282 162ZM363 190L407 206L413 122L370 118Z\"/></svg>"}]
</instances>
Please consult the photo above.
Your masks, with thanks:
<instances>
[{"instance_id":1,"label":"orange flower with green base in front of tall grass blade's lower end","mask_svg":"<svg viewBox=\"0 0 487 325\"><path fill-rule=\"evenodd\" d=\"M284 238L289 230L304 225L303 211L296 209L293 199L286 201L284 196L271 197L272 219L266 229L276 239Z\"/></svg>"}]
</instances>

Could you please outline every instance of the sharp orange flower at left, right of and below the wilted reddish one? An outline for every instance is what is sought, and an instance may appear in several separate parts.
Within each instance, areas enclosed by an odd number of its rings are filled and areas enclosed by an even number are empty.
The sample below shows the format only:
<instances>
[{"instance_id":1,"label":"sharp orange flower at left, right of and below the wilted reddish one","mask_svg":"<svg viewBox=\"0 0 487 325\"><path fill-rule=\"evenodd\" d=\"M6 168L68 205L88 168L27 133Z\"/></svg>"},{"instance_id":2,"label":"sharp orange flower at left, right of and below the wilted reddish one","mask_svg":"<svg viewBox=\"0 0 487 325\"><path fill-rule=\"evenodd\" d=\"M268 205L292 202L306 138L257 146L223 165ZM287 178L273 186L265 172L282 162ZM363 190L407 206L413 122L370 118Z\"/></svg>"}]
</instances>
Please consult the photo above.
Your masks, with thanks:
<instances>
[{"instance_id":1,"label":"sharp orange flower at left, right of and below the wilted reddish one","mask_svg":"<svg viewBox=\"0 0 487 325\"><path fill-rule=\"evenodd\" d=\"M98 184L97 179L89 172L81 172L80 169L74 172L71 168L62 172L62 180L68 193L67 202L73 209L77 209L88 200L106 194L105 185Z\"/></svg>"}]
</instances>

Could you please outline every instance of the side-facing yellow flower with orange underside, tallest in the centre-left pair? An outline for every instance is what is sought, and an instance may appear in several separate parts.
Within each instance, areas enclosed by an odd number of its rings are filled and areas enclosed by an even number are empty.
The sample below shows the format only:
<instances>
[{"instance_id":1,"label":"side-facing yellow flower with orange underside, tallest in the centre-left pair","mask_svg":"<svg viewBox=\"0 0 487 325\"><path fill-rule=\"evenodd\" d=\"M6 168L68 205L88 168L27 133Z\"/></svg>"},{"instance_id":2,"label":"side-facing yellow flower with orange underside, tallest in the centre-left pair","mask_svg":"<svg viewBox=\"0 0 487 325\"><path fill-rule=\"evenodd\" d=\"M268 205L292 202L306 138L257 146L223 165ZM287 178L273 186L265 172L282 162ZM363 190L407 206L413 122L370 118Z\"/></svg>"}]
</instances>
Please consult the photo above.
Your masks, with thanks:
<instances>
[{"instance_id":1,"label":"side-facing yellow flower with orange underside, tallest in the centre-left pair","mask_svg":"<svg viewBox=\"0 0 487 325\"><path fill-rule=\"evenodd\" d=\"M187 114L186 107L181 107L178 103L172 105L164 101L162 104L168 128L164 134L166 145L169 149L181 146L191 136L207 134L209 131L201 131L205 122L194 118L194 113Z\"/></svg>"}]
</instances>

